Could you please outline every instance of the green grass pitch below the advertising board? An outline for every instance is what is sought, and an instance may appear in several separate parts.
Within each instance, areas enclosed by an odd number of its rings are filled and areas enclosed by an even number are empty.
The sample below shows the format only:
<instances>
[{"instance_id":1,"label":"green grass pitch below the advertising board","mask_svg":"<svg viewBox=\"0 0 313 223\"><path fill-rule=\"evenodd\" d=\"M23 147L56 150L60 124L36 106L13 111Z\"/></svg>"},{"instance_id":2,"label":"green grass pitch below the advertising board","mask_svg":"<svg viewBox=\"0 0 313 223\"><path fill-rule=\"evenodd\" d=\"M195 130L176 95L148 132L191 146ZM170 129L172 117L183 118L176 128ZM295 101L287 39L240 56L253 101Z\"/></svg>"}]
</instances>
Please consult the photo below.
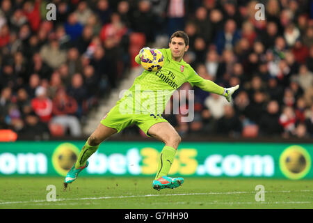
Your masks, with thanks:
<instances>
[{"instance_id":1,"label":"green grass pitch below the advertising board","mask_svg":"<svg viewBox=\"0 0 313 223\"><path fill-rule=\"evenodd\" d=\"M56 201L47 201L48 185ZM256 185L265 188L255 201ZM2 177L0 208L313 208L313 180L185 178L174 190L152 189L152 178L78 178L63 191L63 178Z\"/></svg>"}]
</instances>

